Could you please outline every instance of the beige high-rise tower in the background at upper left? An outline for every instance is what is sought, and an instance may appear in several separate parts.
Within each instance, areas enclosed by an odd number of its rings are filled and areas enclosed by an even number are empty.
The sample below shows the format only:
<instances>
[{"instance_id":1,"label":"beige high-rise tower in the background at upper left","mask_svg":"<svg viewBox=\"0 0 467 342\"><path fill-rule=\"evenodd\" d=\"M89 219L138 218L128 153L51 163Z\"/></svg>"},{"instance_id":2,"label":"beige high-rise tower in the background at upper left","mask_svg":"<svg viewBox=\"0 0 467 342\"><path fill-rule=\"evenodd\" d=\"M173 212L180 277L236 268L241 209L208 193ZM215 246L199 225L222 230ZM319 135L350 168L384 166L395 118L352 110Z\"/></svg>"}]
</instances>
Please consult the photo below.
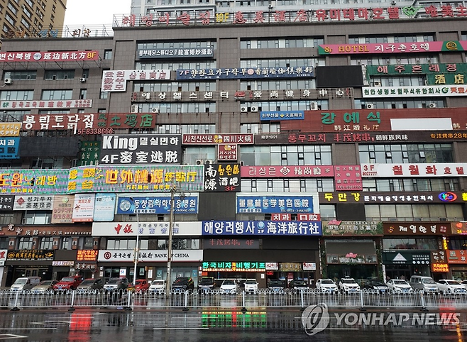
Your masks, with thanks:
<instances>
[{"instance_id":1,"label":"beige high-rise tower in the background at upper left","mask_svg":"<svg viewBox=\"0 0 467 342\"><path fill-rule=\"evenodd\" d=\"M1 38L57 38L62 35L67 0L3 0Z\"/></svg>"}]
</instances>

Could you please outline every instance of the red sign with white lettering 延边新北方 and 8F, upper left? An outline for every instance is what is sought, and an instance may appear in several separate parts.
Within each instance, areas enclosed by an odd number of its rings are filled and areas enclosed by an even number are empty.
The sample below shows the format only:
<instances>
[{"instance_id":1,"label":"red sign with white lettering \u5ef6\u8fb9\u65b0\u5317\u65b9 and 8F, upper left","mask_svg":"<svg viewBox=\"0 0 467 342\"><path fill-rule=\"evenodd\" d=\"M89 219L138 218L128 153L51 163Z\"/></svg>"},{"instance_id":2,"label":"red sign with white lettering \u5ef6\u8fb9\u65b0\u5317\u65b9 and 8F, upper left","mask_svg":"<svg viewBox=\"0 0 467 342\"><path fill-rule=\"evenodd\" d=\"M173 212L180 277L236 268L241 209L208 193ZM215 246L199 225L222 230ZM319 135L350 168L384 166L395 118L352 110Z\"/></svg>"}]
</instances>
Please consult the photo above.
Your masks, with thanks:
<instances>
[{"instance_id":1,"label":"red sign with white lettering \u5ef6\u8fb9\u65b0\u5317\u65b9 and 8F, upper left","mask_svg":"<svg viewBox=\"0 0 467 342\"><path fill-rule=\"evenodd\" d=\"M99 60L99 51L55 51L31 52L17 51L0 53L0 62L69 62L75 60Z\"/></svg>"}]
</instances>

